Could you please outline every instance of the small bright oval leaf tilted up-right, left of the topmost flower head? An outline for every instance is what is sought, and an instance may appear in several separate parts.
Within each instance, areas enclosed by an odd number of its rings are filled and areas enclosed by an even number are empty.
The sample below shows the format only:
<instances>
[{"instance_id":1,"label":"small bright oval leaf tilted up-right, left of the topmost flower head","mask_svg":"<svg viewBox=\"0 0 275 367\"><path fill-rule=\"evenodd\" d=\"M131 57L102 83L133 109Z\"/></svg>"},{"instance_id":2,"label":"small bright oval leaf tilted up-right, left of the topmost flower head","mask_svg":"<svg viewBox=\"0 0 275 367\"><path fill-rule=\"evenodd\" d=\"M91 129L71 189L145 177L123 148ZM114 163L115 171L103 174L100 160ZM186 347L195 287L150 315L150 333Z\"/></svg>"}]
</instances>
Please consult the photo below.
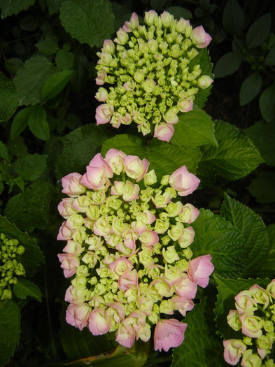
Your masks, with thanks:
<instances>
[{"instance_id":1,"label":"small bright oval leaf tilted up-right, left of the topmost flower head","mask_svg":"<svg viewBox=\"0 0 275 367\"><path fill-rule=\"evenodd\" d=\"M73 70L59 71L49 76L43 85L41 98L48 101L59 94L73 76Z\"/></svg>"}]
</instances>

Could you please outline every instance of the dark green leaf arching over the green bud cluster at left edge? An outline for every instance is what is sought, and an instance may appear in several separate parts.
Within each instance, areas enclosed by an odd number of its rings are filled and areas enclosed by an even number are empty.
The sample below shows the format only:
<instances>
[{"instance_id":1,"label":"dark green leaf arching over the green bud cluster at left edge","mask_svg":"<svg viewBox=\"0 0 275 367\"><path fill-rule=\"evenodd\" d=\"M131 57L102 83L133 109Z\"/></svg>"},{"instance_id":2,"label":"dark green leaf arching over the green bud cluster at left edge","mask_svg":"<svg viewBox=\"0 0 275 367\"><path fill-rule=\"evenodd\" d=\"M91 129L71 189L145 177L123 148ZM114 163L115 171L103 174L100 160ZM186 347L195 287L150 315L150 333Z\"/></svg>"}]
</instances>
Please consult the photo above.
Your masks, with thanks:
<instances>
[{"instance_id":1,"label":"dark green leaf arching over the green bud cluster at left edge","mask_svg":"<svg viewBox=\"0 0 275 367\"><path fill-rule=\"evenodd\" d=\"M34 214L35 215L35 214ZM31 277L36 272L36 269L44 261L43 253L38 247L36 240L31 238L27 232L22 232L10 223L5 217L0 215L0 232L5 233L10 238L19 240L20 245L24 246L24 253L20 255L27 277Z\"/></svg>"}]
</instances>

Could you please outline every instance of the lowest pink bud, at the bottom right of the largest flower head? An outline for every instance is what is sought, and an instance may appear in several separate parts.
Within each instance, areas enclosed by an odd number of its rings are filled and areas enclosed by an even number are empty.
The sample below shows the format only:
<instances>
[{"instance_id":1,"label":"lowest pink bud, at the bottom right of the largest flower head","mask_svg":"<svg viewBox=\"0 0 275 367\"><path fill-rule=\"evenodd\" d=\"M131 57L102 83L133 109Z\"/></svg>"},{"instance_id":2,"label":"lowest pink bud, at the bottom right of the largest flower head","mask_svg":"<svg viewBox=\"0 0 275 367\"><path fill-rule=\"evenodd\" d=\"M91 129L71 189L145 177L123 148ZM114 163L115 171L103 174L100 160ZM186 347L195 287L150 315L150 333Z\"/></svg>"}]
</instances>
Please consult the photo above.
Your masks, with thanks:
<instances>
[{"instance_id":1,"label":"lowest pink bud, at the bottom right of the largest flower head","mask_svg":"<svg viewBox=\"0 0 275 367\"><path fill-rule=\"evenodd\" d=\"M187 324L177 319L160 319L155 326L155 350L167 352L169 348L179 347L183 343L186 327Z\"/></svg>"}]
</instances>

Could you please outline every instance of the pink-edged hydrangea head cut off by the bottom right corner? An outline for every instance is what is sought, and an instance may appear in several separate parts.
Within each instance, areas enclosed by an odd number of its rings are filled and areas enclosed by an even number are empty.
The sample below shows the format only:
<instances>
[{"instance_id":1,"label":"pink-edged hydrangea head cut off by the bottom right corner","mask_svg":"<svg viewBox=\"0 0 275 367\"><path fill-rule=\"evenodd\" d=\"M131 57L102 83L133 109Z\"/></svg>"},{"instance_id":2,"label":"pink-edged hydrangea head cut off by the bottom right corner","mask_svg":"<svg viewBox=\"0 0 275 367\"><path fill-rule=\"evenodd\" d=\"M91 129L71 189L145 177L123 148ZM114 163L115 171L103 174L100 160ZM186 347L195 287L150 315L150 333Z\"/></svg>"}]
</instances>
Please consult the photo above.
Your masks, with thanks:
<instances>
[{"instance_id":1,"label":"pink-edged hydrangea head cut off by the bottom right corner","mask_svg":"<svg viewBox=\"0 0 275 367\"><path fill-rule=\"evenodd\" d=\"M227 315L228 324L244 334L241 339L223 342L224 357L228 364L242 367L274 367L269 358L275 340L275 279L264 289L253 285L235 297L236 310Z\"/></svg>"}]
</instances>

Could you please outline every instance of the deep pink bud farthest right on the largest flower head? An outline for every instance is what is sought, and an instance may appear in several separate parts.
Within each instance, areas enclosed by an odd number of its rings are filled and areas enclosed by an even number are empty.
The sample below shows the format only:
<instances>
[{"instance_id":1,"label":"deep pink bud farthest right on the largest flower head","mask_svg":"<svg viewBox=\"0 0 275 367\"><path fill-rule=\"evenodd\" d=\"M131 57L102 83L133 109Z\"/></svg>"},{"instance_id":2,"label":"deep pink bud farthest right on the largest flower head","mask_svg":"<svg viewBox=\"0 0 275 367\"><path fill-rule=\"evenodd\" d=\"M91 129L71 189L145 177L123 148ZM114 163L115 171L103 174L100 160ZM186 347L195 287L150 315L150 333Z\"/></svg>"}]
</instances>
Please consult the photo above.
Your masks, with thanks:
<instances>
[{"instance_id":1,"label":"deep pink bud farthest right on the largest flower head","mask_svg":"<svg viewBox=\"0 0 275 367\"><path fill-rule=\"evenodd\" d=\"M207 254L192 259L188 264L188 275L202 288L209 284L209 276L214 271L211 259L211 255Z\"/></svg>"}]
</instances>

